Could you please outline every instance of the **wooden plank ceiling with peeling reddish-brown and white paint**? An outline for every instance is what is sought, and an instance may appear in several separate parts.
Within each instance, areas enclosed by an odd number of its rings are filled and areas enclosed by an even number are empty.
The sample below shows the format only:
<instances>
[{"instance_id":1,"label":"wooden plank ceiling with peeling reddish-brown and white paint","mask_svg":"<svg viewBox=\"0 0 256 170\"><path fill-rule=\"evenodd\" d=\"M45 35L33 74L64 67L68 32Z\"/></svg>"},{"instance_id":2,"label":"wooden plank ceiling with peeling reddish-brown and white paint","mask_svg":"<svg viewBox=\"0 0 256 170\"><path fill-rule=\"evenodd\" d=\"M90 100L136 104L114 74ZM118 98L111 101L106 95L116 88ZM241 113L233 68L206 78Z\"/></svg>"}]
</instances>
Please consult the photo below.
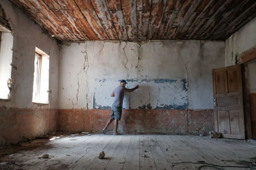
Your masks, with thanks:
<instances>
[{"instance_id":1,"label":"wooden plank ceiling with peeling reddish-brown and white paint","mask_svg":"<svg viewBox=\"0 0 256 170\"><path fill-rule=\"evenodd\" d=\"M10 0L60 41L225 40L255 0Z\"/></svg>"}]
</instances>

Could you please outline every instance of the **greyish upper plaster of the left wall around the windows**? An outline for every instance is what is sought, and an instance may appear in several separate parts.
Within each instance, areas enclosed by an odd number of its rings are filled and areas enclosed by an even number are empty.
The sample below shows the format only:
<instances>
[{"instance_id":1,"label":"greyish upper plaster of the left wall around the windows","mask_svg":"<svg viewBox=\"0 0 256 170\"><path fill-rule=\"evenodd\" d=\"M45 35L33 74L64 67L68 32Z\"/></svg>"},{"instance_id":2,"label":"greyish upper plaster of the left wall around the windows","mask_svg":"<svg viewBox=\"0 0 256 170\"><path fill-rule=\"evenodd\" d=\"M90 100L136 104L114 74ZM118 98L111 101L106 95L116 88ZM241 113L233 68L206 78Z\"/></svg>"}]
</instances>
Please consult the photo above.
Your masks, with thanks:
<instances>
[{"instance_id":1,"label":"greyish upper plaster of the left wall around the windows","mask_svg":"<svg viewBox=\"0 0 256 170\"><path fill-rule=\"evenodd\" d=\"M45 34L42 29L9 1L0 2L6 13L6 19L13 29L13 67L12 93L8 102L1 103L12 108L35 108L32 101L35 47L50 56L49 69L49 105L57 108L58 97L58 61L60 51L56 40Z\"/></svg>"}]
</instances>

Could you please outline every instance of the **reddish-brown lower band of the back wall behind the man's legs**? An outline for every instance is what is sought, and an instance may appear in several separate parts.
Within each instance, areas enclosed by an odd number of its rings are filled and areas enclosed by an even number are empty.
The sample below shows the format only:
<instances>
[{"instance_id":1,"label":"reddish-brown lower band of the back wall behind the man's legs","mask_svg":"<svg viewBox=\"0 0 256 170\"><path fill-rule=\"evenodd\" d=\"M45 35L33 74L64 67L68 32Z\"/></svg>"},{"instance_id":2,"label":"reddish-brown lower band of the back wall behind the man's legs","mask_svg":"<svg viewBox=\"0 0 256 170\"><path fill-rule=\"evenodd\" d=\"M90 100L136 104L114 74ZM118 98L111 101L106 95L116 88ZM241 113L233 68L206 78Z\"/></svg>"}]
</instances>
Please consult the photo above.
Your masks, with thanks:
<instances>
[{"instance_id":1,"label":"reddish-brown lower band of the back wall behind the man's legs","mask_svg":"<svg viewBox=\"0 0 256 170\"><path fill-rule=\"evenodd\" d=\"M57 129L99 133L110 115L110 110L58 110ZM208 134L213 130L213 110L123 110L118 127L123 133Z\"/></svg>"}]
</instances>

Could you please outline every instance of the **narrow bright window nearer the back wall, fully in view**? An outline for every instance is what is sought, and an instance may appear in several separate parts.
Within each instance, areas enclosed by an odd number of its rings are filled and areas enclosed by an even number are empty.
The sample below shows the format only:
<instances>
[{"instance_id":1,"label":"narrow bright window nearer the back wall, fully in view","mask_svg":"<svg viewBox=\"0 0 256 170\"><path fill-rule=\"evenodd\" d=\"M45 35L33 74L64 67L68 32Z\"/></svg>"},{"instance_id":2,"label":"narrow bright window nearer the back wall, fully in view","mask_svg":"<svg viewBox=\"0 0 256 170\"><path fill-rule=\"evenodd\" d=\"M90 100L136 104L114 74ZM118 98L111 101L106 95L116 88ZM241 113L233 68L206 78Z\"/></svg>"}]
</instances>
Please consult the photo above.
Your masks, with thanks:
<instances>
[{"instance_id":1,"label":"narrow bright window nearer the back wall, fully in view","mask_svg":"<svg viewBox=\"0 0 256 170\"><path fill-rule=\"evenodd\" d=\"M36 47L33 81L33 103L49 102L49 55Z\"/></svg>"}]
</instances>

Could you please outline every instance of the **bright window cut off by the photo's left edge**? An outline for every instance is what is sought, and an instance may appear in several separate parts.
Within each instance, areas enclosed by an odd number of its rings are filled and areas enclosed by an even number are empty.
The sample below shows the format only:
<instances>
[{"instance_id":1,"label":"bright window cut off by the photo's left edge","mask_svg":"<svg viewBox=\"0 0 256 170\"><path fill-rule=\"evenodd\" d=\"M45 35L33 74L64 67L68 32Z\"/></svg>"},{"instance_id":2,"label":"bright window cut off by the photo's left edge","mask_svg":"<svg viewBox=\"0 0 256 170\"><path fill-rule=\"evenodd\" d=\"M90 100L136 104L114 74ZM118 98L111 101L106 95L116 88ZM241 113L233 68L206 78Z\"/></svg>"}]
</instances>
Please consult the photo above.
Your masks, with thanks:
<instances>
[{"instance_id":1,"label":"bright window cut off by the photo's left edge","mask_svg":"<svg viewBox=\"0 0 256 170\"><path fill-rule=\"evenodd\" d=\"M0 39L0 99L10 99L13 35L2 25Z\"/></svg>"}]
</instances>

